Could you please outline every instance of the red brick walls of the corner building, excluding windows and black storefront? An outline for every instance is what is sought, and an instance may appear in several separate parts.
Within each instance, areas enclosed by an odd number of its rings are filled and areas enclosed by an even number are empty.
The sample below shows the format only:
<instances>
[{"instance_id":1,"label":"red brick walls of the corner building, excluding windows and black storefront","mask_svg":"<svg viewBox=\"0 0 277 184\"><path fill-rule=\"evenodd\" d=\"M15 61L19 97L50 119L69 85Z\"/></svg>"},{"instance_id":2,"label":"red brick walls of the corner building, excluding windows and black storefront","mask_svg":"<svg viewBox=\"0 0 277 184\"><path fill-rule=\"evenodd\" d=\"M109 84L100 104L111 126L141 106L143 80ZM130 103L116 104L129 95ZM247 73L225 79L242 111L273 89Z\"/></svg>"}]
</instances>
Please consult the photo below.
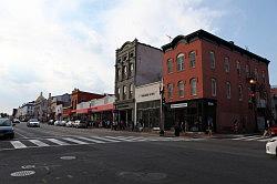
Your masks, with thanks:
<instances>
[{"instance_id":1,"label":"red brick walls of the corner building, excluding windows and black storefront","mask_svg":"<svg viewBox=\"0 0 277 184\"><path fill-rule=\"evenodd\" d=\"M218 132L232 131L234 122L238 122L240 129L254 131L256 124L254 110L249 109L249 94L252 93L249 79L250 76L256 79L255 74L257 73L257 85L259 90L263 90L263 93L268 95L270 91L268 60L203 30L186 37L178 35L171 43L164 45L163 50L164 95L167 103L189 102L196 99L215 100L217 104L216 130ZM195 68L189 67L189 52L192 51L196 53ZM214 67L211 51L215 58ZM183 71L177 71L177 55L179 53L184 54ZM228 72L225 71L225 60L227 60L225 58L228 59L229 63ZM168 73L168 59L173 60L171 73ZM196 79L196 95L191 94L192 79ZM212 95L212 79L216 82L216 94L214 95ZM185 84L184 96L178 94L179 81ZM170 83L173 84L172 98L168 98L167 85ZM227 83L230 84L229 98L227 98ZM268 101L268 99L266 100Z\"/></svg>"}]
</instances>

